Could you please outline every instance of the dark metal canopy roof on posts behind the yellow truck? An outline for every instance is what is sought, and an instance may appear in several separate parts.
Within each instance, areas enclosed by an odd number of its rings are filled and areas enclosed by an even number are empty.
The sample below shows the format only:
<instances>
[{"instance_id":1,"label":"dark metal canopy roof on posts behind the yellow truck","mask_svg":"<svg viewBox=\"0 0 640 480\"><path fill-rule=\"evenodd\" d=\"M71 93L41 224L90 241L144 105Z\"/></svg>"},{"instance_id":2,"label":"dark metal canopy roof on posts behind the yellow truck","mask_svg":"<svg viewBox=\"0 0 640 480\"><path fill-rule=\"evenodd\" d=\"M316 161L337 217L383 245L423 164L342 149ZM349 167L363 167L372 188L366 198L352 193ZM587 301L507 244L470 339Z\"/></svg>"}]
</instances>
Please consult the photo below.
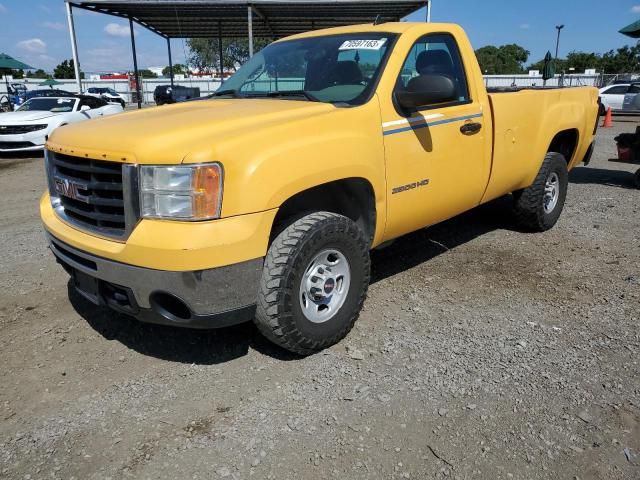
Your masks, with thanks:
<instances>
[{"instance_id":1,"label":"dark metal canopy roof on posts behind the yellow truck","mask_svg":"<svg viewBox=\"0 0 640 480\"><path fill-rule=\"evenodd\" d=\"M165 38L282 38L320 28L399 21L428 0L66 0L74 7L133 19ZM218 25L220 30L218 30Z\"/></svg>"}]
</instances>

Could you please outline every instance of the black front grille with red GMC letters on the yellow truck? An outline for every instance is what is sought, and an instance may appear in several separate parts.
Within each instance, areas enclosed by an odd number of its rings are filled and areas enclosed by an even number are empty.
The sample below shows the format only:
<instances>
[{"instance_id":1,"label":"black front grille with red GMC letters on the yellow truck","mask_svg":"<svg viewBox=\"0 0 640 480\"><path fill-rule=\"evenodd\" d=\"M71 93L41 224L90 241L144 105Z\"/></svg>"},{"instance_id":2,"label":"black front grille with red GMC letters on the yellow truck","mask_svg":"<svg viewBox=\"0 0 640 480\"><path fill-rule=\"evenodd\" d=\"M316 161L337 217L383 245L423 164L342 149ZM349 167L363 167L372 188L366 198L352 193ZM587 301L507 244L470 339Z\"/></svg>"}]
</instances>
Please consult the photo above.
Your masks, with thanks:
<instances>
[{"instance_id":1,"label":"black front grille with red GMC letters on the yellow truck","mask_svg":"<svg viewBox=\"0 0 640 480\"><path fill-rule=\"evenodd\" d=\"M124 236L122 165L52 152L49 152L49 160L53 194L60 200L64 215L84 229L108 236Z\"/></svg>"}]
</instances>

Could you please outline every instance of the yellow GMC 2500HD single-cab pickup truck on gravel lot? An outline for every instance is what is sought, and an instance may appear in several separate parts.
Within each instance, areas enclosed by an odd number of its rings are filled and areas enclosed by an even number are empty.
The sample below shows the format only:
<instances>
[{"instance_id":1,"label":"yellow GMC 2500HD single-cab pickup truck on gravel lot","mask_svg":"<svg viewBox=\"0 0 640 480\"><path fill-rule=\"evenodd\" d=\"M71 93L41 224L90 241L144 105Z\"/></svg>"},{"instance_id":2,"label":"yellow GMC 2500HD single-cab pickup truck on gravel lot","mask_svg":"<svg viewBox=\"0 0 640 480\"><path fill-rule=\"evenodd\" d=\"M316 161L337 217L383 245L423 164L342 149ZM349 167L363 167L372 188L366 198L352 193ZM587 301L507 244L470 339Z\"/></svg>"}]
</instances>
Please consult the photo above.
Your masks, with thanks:
<instances>
[{"instance_id":1,"label":"yellow GMC 2500HD single-cab pickup truck on gravel lot","mask_svg":"<svg viewBox=\"0 0 640 480\"><path fill-rule=\"evenodd\" d=\"M371 249L507 194L553 227L597 117L595 88L488 93L456 25L313 31L206 99L56 130L40 211L90 301L310 354L352 328Z\"/></svg>"}]
</instances>

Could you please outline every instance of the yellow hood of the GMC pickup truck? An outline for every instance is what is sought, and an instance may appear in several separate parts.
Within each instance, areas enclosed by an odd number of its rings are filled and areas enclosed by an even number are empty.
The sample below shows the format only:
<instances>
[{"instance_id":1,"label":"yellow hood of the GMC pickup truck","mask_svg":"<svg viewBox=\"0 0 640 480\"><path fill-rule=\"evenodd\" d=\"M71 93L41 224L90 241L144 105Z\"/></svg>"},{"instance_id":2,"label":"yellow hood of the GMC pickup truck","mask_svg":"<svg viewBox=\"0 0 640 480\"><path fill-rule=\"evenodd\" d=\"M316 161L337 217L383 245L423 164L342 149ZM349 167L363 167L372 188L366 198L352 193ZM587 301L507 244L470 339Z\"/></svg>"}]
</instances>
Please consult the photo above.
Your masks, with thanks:
<instances>
[{"instance_id":1,"label":"yellow hood of the GMC pickup truck","mask_svg":"<svg viewBox=\"0 0 640 480\"><path fill-rule=\"evenodd\" d=\"M128 163L175 164L198 148L258 128L335 111L330 104L278 99L192 101L104 117L58 129L47 148Z\"/></svg>"}]
</instances>

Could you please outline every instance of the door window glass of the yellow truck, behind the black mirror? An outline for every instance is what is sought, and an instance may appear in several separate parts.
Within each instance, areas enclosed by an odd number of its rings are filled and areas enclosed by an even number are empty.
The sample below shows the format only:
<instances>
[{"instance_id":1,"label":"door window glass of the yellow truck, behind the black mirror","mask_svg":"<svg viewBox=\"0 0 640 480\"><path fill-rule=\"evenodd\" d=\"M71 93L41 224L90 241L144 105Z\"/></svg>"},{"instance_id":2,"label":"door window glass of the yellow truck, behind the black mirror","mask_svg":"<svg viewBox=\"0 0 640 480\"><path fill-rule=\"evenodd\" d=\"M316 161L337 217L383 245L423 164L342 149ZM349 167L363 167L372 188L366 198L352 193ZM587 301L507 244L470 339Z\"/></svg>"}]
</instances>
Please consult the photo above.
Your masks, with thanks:
<instances>
[{"instance_id":1,"label":"door window glass of the yellow truck, behind the black mirror","mask_svg":"<svg viewBox=\"0 0 640 480\"><path fill-rule=\"evenodd\" d=\"M396 90L418 92L425 85L421 80L430 75L444 76L453 82L455 100L447 105L470 101L460 50L455 39L449 34L426 35L413 45L400 71Z\"/></svg>"}]
</instances>

